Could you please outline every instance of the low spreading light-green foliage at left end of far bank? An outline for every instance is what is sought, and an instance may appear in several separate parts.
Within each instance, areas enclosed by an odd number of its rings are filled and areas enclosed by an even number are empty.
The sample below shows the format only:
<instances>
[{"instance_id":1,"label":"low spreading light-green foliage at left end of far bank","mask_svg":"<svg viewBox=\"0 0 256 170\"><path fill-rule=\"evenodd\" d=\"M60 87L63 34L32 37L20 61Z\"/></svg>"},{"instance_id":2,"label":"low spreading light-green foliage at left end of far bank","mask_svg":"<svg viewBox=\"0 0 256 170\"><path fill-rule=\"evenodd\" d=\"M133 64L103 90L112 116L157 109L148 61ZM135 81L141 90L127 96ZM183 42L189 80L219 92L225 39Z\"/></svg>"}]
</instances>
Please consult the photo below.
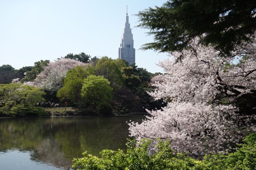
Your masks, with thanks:
<instances>
[{"instance_id":1,"label":"low spreading light-green foliage at left end of far bank","mask_svg":"<svg viewBox=\"0 0 256 170\"><path fill-rule=\"evenodd\" d=\"M45 112L33 105L43 101L41 88L21 83L0 84L0 114L9 116L42 115Z\"/></svg>"}]
</instances>

